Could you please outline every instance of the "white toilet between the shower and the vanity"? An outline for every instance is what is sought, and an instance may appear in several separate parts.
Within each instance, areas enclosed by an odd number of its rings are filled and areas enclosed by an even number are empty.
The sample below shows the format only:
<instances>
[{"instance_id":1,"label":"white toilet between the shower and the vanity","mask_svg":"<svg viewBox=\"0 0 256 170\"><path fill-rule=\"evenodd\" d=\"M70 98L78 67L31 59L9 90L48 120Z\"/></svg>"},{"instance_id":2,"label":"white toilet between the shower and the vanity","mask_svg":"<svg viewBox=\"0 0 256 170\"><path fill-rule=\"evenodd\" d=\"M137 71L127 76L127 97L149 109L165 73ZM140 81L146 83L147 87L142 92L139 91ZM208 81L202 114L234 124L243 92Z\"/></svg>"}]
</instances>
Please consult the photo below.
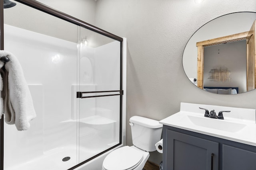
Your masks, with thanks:
<instances>
[{"instance_id":1,"label":"white toilet between the shower and the vanity","mask_svg":"<svg viewBox=\"0 0 256 170\"><path fill-rule=\"evenodd\" d=\"M142 170L155 151L155 144L161 139L162 124L146 117L130 118L133 146L120 147L108 154L103 161L102 170Z\"/></svg>"}]
</instances>

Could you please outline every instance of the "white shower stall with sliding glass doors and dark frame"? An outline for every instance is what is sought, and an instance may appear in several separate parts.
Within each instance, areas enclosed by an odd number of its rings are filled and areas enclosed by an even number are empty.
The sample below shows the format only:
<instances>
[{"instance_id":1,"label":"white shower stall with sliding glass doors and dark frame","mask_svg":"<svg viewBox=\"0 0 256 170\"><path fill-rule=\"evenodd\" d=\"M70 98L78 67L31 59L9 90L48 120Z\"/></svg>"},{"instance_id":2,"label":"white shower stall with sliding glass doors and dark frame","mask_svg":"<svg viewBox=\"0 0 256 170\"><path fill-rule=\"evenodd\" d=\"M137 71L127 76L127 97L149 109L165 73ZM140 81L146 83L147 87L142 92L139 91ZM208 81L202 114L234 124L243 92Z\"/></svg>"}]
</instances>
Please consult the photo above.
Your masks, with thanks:
<instances>
[{"instance_id":1,"label":"white shower stall with sliding glass doors and dark frame","mask_svg":"<svg viewBox=\"0 0 256 170\"><path fill-rule=\"evenodd\" d=\"M20 61L37 117L27 131L2 117L0 170L101 169L125 144L126 39L35 0L15 3L0 0L0 47Z\"/></svg>"}]
</instances>

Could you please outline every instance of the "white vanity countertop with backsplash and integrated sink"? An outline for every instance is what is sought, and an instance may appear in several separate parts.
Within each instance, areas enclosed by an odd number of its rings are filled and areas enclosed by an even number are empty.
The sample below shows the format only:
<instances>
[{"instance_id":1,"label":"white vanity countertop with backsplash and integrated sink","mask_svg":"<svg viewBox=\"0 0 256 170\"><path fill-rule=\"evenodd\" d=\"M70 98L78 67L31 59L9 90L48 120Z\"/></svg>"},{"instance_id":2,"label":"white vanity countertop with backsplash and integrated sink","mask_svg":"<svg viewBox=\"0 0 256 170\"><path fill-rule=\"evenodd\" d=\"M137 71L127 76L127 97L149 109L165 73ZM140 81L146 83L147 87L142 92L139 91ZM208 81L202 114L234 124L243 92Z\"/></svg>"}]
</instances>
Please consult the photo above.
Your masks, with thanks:
<instances>
[{"instance_id":1,"label":"white vanity countertop with backsplash and integrated sink","mask_svg":"<svg viewBox=\"0 0 256 170\"><path fill-rule=\"evenodd\" d=\"M218 115L223 112L224 120L204 117L203 107L214 109ZM256 146L256 110L236 107L223 107L201 104L181 103L180 111L159 123L188 131L202 133L214 137Z\"/></svg>"}]
</instances>

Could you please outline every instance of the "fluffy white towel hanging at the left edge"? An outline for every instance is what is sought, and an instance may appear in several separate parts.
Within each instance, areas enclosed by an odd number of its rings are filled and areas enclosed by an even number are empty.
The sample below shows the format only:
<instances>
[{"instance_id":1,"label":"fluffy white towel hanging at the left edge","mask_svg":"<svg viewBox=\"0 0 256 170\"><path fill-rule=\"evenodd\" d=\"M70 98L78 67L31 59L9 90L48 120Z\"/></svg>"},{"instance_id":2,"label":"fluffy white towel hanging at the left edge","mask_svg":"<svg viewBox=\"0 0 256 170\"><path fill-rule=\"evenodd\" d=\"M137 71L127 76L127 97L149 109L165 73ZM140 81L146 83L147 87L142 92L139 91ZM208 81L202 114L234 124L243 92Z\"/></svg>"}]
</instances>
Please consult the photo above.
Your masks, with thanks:
<instances>
[{"instance_id":1,"label":"fluffy white towel hanging at the left edge","mask_svg":"<svg viewBox=\"0 0 256 170\"><path fill-rule=\"evenodd\" d=\"M10 125L15 124L19 131L27 130L30 127L29 122L36 117L32 97L18 59L12 53L0 51L0 57L3 56L10 59L4 64L6 71L1 81L4 92L4 120ZM2 65L3 62L0 61L0 66Z\"/></svg>"}]
</instances>

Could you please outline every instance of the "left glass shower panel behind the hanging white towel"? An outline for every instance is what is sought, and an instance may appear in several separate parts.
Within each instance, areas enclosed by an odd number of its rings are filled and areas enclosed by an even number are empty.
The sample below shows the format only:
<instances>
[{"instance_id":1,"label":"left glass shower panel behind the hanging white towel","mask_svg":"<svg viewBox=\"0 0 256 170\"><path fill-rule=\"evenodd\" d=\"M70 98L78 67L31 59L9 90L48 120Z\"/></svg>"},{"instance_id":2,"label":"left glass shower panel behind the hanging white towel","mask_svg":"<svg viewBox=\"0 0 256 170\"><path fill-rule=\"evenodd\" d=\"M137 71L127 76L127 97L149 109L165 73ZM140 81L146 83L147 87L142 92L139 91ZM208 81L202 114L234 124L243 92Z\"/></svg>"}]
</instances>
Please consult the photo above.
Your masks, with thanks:
<instances>
[{"instance_id":1,"label":"left glass shower panel behind the hanging white towel","mask_svg":"<svg viewBox=\"0 0 256 170\"><path fill-rule=\"evenodd\" d=\"M16 3L4 9L4 50L22 66L37 116L26 131L4 123L4 170L67 170L77 164L78 26Z\"/></svg>"}]
</instances>

